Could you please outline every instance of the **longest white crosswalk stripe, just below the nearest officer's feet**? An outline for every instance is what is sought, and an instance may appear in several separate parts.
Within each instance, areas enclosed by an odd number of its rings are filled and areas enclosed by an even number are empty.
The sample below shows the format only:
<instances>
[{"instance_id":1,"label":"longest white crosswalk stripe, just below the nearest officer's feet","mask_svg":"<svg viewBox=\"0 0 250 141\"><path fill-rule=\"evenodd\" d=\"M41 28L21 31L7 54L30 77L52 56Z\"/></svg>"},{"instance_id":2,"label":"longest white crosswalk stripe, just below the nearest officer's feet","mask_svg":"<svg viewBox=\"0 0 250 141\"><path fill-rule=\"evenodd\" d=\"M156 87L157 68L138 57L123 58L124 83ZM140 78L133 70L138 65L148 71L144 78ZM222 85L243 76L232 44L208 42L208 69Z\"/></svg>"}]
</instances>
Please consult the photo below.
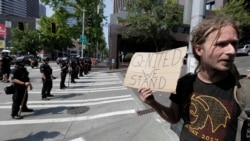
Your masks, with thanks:
<instances>
[{"instance_id":1,"label":"longest white crosswalk stripe, just below the nearest officer's feet","mask_svg":"<svg viewBox=\"0 0 250 141\"><path fill-rule=\"evenodd\" d=\"M0 121L0 125L20 125L20 124L42 124L42 123L61 123L61 122L74 122L74 121L84 121L84 120L92 120L104 117L118 116L118 115L126 115L126 114L135 114L135 109L125 110L125 111L115 111L109 113L102 113L97 115L90 116L73 116L68 118L50 118L50 119L35 119L35 120L7 120Z\"/></svg>"}]
</instances>

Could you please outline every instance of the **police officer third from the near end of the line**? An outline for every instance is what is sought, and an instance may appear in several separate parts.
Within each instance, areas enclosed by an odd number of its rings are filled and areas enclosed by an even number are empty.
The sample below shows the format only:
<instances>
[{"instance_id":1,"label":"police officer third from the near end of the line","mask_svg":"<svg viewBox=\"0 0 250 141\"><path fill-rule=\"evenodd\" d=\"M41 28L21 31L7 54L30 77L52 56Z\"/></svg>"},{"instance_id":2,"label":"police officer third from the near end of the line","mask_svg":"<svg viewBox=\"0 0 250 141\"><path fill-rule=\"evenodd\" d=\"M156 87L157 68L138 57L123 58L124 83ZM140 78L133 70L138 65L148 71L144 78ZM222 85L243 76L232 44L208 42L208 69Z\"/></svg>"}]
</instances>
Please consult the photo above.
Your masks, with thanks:
<instances>
[{"instance_id":1,"label":"police officer third from the near end of the line","mask_svg":"<svg viewBox=\"0 0 250 141\"><path fill-rule=\"evenodd\" d=\"M60 89L64 89L64 88L66 88L66 86L65 86L64 83L65 83L65 79L66 79L66 76L67 76L67 73L68 73L68 69L69 69L67 58L63 58L62 59L60 67L61 67Z\"/></svg>"}]
</instances>

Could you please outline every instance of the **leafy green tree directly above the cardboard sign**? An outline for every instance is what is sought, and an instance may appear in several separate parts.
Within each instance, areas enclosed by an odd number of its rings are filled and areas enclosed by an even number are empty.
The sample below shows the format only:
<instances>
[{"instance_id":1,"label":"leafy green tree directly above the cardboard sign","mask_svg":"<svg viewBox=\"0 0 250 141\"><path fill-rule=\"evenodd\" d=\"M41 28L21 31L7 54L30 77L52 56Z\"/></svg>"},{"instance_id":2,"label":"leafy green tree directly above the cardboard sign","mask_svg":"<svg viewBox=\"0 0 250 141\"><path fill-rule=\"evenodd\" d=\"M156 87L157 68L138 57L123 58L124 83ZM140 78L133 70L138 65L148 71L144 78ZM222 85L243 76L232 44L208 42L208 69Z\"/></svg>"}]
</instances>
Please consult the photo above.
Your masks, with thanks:
<instances>
[{"instance_id":1,"label":"leafy green tree directly above the cardboard sign","mask_svg":"<svg viewBox=\"0 0 250 141\"><path fill-rule=\"evenodd\" d=\"M118 18L128 24L123 38L137 38L138 42L153 41L155 50L171 48L172 33L182 26L183 6L176 0L137 0L127 5L128 16Z\"/></svg>"}]
</instances>

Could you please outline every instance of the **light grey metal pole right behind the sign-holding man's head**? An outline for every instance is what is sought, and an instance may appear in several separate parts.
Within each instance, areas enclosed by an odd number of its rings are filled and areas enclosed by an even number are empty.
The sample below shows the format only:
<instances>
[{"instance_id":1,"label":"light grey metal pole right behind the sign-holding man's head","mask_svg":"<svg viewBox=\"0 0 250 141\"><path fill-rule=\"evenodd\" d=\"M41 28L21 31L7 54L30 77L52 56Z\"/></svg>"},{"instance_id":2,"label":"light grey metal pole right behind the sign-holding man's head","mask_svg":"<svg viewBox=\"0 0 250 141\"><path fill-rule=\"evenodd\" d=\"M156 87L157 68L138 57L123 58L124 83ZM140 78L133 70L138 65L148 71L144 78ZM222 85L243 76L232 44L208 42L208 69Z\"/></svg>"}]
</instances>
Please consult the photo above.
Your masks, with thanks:
<instances>
[{"instance_id":1,"label":"light grey metal pole right behind the sign-holding man's head","mask_svg":"<svg viewBox=\"0 0 250 141\"><path fill-rule=\"evenodd\" d=\"M206 10L205 6L206 6L205 0L186 0L184 13L190 12L190 14L185 13L186 15L184 15L185 16L184 23L185 23L185 21L188 22L187 19L191 19L190 32L204 18L205 10ZM194 58L194 54L192 51L192 45L191 45L191 42L189 41L186 72L187 73L189 73L189 72L194 73L196 66L197 66L197 61Z\"/></svg>"}]
</instances>

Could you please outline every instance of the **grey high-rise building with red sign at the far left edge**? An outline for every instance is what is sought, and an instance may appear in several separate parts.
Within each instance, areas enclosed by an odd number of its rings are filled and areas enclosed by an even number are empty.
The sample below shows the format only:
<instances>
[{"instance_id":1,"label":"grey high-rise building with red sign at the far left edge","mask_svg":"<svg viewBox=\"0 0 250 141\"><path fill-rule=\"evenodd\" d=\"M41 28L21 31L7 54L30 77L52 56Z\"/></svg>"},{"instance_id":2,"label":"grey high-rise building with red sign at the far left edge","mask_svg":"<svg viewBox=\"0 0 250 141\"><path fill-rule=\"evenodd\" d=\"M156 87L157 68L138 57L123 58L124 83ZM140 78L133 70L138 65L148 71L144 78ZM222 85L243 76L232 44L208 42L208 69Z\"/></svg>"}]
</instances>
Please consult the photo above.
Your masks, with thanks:
<instances>
[{"instance_id":1,"label":"grey high-rise building with red sign at the far left edge","mask_svg":"<svg viewBox=\"0 0 250 141\"><path fill-rule=\"evenodd\" d=\"M39 0L0 0L0 50L11 47L11 29L19 23L36 29L39 9ZM45 7L42 11L46 11Z\"/></svg>"}]
</instances>

